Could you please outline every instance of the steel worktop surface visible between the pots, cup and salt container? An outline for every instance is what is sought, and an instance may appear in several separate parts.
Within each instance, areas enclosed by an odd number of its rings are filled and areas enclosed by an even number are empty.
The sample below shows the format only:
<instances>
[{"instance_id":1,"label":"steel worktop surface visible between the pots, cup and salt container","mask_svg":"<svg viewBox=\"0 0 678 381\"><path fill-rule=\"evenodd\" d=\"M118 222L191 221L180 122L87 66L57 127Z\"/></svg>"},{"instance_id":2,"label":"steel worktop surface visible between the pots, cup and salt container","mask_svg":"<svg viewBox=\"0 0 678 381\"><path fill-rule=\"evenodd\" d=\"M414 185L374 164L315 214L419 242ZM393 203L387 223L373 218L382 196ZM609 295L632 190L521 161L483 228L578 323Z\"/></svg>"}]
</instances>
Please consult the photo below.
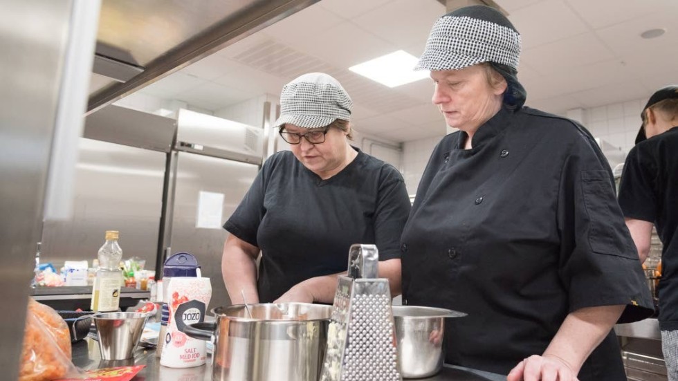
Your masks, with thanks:
<instances>
[{"instance_id":1,"label":"steel worktop surface visible between the pots, cup and salt container","mask_svg":"<svg viewBox=\"0 0 678 381\"><path fill-rule=\"evenodd\" d=\"M208 357L210 362L211 357ZM211 364L197 366L195 368L174 369L160 365L160 359L156 357L154 349L137 349L134 359L122 361L101 360L99 344L96 340L86 337L84 340L73 344L73 364L81 369L90 370L108 368L111 366L145 365L145 368L137 373L132 381L209 381L212 378ZM443 366L437 375L430 378L420 378L421 381L504 381L506 376L466 369L458 366Z\"/></svg>"}]
</instances>

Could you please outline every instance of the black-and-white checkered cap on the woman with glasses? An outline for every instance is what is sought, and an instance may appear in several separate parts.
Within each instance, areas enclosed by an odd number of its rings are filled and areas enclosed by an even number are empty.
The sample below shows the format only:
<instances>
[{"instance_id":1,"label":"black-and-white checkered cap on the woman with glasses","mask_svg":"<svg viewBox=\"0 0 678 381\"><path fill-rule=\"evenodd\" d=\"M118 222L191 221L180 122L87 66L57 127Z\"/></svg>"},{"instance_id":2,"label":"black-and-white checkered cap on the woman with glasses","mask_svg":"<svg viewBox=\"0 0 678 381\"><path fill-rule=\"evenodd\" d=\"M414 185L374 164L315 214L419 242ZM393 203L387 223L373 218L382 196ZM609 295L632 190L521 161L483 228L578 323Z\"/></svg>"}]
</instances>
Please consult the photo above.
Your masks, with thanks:
<instances>
[{"instance_id":1,"label":"black-and-white checkered cap on the woman with glasses","mask_svg":"<svg viewBox=\"0 0 678 381\"><path fill-rule=\"evenodd\" d=\"M324 73L308 73L282 88L280 118L274 128L289 123L315 129L336 119L351 120L353 101L341 84Z\"/></svg>"}]
</instances>

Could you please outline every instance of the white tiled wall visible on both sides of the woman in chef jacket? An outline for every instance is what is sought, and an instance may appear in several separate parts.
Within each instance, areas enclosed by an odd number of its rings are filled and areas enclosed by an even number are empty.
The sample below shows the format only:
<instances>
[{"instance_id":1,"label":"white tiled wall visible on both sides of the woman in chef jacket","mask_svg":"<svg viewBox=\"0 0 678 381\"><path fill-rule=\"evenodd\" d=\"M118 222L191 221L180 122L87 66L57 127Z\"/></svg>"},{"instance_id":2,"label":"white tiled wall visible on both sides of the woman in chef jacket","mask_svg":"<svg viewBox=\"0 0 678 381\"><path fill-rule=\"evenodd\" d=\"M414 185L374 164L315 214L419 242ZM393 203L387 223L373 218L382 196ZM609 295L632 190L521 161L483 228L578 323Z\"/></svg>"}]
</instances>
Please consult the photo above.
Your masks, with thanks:
<instances>
[{"instance_id":1,"label":"white tiled wall visible on both sides of the woman in chef jacket","mask_svg":"<svg viewBox=\"0 0 678 381\"><path fill-rule=\"evenodd\" d=\"M584 124L592 135L614 147L625 156L633 147L641 127L641 111L647 100L607 104L592 109L576 109L565 113L569 118ZM410 140L403 145L403 176L410 195L416 193L421 175L435 145L442 138Z\"/></svg>"}]
</instances>

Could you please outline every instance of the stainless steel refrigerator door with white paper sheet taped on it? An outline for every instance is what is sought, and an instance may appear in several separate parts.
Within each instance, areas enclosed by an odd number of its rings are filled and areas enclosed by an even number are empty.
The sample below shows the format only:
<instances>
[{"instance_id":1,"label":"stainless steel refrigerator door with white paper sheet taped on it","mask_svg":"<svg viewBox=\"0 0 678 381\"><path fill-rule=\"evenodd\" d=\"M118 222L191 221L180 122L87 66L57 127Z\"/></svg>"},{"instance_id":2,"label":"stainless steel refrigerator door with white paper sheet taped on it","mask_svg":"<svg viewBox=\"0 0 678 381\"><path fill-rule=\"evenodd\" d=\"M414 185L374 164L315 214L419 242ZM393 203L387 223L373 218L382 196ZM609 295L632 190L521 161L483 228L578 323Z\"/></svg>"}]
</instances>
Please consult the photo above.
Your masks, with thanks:
<instances>
[{"instance_id":1,"label":"stainless steel refrigerator door with white paper sheet taped on it","mask_svg":"<svg viewBox=\"0 0 678 381\"><path fill-rule=\"evenodd\" d=\"M190 252L203 277L212 281L211 309L230 304L221 277L221 252L228 232L223 223L235 211L252 185L257 165L192 154L176 153L176 185L172 211L171 253Z\"/></svg>"}]
</instances>

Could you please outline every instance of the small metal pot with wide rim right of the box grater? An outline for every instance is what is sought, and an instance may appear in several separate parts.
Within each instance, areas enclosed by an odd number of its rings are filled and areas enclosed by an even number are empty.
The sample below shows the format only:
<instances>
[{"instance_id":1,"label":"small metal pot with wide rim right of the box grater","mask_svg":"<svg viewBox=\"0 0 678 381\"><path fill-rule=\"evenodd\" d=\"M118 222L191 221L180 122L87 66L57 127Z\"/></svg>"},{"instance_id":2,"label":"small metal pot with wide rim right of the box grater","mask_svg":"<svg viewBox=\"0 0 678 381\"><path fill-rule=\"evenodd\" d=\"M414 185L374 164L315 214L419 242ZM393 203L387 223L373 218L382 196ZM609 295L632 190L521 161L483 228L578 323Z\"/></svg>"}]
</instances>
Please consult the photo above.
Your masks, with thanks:
<instances>
[{"instance_id":1,"label":"small metal pot with wide rim right of the box grater","mask_svg":"<svg viewBox=\"0 0 678 381\"><path fill-rule=\"evenodd\" d=\"M466 316L445 308L393 306L398 339L398 367L403 378L424 378L445 361L445 318Z\"/></svg>"}]
</instances>

